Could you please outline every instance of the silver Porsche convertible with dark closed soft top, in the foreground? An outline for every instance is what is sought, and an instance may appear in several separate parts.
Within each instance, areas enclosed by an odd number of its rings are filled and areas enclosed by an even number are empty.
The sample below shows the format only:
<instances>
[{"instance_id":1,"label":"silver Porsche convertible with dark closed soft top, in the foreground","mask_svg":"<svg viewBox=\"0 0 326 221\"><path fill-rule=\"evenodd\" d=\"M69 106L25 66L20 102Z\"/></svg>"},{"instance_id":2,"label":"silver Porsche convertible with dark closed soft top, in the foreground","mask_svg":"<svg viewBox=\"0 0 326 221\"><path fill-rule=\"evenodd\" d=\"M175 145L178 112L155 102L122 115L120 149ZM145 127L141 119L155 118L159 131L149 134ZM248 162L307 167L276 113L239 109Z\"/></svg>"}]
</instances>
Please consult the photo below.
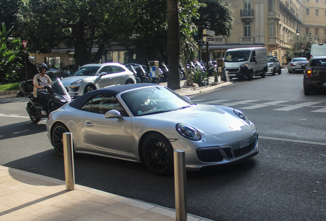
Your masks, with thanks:
<instances>
[{"instance_id":1,"label":"silver Porsche convertible with dark closed soft top, in the foreground","mask_svg":"<svg viewBox=\"0 0 326 221\"><path fill-rule=\"evenodd\" d=\"M76 153L145 163L165 175L173 150L185 150L187 170L229 165L258 153L258 130L237 109L193 104L165 86L128 84L89 92L52 112L46 123L55 151L63 133Z\"/></svg>"}]
</instances>

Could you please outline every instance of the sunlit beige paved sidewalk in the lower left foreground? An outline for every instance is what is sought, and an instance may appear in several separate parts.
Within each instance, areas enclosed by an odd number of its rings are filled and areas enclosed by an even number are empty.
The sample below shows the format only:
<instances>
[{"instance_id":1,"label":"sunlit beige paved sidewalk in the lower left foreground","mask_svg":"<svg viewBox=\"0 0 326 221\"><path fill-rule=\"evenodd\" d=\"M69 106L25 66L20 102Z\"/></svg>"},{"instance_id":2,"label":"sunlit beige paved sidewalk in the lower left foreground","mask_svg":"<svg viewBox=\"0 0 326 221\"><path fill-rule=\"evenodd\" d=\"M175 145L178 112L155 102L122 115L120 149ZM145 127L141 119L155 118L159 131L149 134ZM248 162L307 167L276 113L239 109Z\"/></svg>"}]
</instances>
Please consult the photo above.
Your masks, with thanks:
<instances>
[{"instance_id":1,"label":"sunlit beige paved sidewalk in the lower left foreground","mask_svg":"<svg viewBox=\"0 0 326 221\"><path fill-rule=\"evenodd\" d=\"M188 213L189 221L210 220ZM0 166L2 221L173 221L175 210Z\"/></svg>"}]
</instances>

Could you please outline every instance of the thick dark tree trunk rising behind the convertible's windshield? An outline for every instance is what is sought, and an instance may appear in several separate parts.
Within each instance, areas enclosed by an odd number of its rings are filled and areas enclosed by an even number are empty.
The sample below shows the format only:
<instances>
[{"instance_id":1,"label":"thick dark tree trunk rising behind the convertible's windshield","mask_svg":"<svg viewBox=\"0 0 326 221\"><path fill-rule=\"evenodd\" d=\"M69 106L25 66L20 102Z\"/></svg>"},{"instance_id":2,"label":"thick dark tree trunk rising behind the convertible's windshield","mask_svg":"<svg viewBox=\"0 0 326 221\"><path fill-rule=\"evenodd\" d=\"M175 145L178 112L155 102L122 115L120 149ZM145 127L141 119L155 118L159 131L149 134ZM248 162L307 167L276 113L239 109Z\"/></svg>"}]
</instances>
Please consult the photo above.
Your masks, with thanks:
<instances>
[{"instance_id":1,"label":"thick dark tree trunk rising behind the convertible's windshield","mask_svg":"<svg viewBox=\"0 0 326 221\"><path fill-rule=\"evenodd\" d=\"M180 56L180 31L178 0L167 0L168 4L168 87L172 90L180 89L179 56Z\"/></svg>"}]
</instances>

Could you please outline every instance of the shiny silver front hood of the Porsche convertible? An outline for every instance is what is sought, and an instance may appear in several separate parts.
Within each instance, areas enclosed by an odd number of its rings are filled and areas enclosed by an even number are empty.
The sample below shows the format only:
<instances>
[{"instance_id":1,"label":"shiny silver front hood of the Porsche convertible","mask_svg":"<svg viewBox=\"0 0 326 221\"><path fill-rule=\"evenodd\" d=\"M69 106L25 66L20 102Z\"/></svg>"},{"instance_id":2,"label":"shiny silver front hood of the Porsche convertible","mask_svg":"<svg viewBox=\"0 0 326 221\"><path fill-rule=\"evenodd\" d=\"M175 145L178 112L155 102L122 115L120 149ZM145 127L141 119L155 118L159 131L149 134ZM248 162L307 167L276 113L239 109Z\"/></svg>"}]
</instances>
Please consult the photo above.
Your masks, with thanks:
<instances>
[{"instance_id":1,"label":"shiny silver front hood of the Porsche convertible","mask_svg":"<svg viewBox=\"0 0 326 221\"><path fill-rule=\"evenodd\" d=\"M230 111L233 113L232 108L230 108ZM165 119L164 121L173 121L173 124L185 123L212 135L222 135L239 131L248 125L235 114L229 114L220 109L219 106L202 104L178 111L147 115L144 117Z\"/></svg>"}]
</instances>

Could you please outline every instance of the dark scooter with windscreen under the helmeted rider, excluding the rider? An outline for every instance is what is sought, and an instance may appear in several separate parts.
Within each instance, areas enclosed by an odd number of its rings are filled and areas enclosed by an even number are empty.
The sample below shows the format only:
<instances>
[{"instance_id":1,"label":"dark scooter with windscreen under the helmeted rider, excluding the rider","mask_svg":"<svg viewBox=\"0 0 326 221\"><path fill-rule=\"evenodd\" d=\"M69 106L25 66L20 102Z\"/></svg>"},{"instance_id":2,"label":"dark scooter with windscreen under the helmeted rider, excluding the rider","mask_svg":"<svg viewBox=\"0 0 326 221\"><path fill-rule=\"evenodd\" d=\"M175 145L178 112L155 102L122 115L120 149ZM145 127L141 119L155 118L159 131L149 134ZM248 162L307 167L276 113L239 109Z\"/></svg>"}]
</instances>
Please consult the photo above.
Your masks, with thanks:
<instances>
[{"instance_id":1,"label":"dark scooter with windscreen under the helmeted rider, excluding the rider","mask_svg":"<svg viewBox=\"0 0 326 221\"><path fill-rule=\"evenodd\" d=\"M37 79L39 82L42 80ZM64 85L59 78L53 81L51 86L44 86L47 89L48 98L48 113L42 114L43 99L39 99L33 96L33 80L27 80L19 85L19 89L28 93L29 102L27 103L27 113L33 123L38 123L40 119L47 118L49 113L55 111L59 107L71 101L71 97L67 93Z\"/></svg>"}]
</instances>

